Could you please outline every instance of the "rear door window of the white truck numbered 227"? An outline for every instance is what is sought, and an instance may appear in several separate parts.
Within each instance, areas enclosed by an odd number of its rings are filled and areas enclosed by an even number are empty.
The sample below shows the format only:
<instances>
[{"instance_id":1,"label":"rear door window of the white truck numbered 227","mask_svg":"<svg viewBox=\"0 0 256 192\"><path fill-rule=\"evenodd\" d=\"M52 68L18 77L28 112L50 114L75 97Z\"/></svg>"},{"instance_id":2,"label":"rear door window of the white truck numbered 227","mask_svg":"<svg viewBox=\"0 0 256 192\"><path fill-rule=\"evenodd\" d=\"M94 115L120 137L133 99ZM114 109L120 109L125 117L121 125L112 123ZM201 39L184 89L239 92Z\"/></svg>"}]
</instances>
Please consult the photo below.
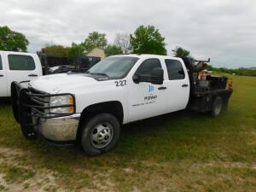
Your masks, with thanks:
<instances>
[{"instance_id":1,"label":"rear door window of the white truck numbered 227","mask_svg":"<svg viewBox=\"0 0 256 192\"><path fill-rule=\"evenodd\" d=\"M167 59L165 60L165 62L166 62L169 80L177 80L177 79L185 78L183 66L180 61Z\"/></svg>"}]
</instances>

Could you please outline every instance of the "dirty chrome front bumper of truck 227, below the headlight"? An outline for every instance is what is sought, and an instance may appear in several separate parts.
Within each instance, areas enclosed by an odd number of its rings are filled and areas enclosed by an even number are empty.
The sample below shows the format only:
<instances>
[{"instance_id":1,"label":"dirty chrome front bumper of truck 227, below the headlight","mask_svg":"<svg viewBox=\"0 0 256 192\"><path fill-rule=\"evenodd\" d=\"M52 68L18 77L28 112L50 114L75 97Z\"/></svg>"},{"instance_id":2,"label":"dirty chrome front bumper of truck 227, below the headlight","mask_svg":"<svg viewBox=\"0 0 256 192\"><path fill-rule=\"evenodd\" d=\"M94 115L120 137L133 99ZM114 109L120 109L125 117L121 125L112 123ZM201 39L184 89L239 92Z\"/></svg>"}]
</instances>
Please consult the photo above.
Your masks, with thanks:
<instances>
[{"instance_id":1,"label":"dirty chrome front bumper of truck 227, below the headlight","mask_svg":"<svg viewBox=\"0 0 256 192\"><path fill-rule=\"evenodd\" d=\"M48 141L71 142L76 140L79 118L79 113L53 119L33 117L33 129Z\"/></svg>"}]
</instances>

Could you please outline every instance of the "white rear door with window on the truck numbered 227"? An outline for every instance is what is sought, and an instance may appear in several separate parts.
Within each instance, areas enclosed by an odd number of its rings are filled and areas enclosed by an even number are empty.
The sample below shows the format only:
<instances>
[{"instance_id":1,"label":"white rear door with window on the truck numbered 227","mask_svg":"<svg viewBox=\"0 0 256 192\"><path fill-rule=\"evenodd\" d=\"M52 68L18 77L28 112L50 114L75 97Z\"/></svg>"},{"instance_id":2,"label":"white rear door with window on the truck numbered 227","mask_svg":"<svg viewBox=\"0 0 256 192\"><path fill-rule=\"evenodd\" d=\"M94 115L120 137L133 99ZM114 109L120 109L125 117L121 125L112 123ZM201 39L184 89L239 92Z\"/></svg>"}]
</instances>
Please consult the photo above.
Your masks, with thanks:
<instances>
[{"instance_id":1,"label":"white rear door with window on the truck numbered 227","mask_svg":"<svg viewBox=\"0 0 256 192\"><path fill-rule=\"evenodd\" d=\"M184 64L175 59L165 59L168 79L167 103L168 113L186 108L189 102L189 76Z\"/></svg>"}]
</instances>

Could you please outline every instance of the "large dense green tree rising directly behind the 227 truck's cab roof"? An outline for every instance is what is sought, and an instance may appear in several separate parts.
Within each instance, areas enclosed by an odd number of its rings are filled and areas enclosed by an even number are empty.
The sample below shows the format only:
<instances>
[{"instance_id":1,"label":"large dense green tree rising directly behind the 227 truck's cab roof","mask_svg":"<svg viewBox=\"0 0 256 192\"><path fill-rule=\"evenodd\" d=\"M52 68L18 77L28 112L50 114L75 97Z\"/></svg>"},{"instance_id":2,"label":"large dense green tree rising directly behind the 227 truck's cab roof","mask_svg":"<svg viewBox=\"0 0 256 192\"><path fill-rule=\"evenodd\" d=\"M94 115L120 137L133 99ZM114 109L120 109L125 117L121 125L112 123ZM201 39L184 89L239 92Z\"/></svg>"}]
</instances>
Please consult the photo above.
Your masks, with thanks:
<instances>
[{"instance_id":1,"label":"large dense green tree rising directly behind the 227 truck's cab roof","mask_svg":"<svg viewBox=\"0 0 256 192\"><path fill-rule=\"evenodd\" d=\"M130 38L133 53L166 55L165 38L154 26L139 26Z\"/></svg>"}]
</instances>

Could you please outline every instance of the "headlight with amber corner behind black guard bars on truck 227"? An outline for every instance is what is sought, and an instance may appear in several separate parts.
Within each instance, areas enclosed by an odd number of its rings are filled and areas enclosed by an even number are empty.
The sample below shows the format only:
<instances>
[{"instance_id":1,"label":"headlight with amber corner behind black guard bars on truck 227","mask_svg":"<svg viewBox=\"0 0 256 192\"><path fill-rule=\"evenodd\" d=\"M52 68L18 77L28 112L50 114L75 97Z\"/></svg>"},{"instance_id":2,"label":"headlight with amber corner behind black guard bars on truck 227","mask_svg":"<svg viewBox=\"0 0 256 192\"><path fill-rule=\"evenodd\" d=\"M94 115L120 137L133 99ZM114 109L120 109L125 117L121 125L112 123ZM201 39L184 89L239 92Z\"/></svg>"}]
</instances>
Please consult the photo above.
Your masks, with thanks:
<instances>
[{"instance_id":1,"label":"headlight with amber corner behind black guard bars on truck 227","mask_svg":"<svg viewBox=\"0 0 256 192\"><path fill-rule=\"evenodd\" d=\"M74 101L73 96L51 96L49 98L49 107L72 105L70 107L63 108L50 108L49 113L74 113Z\"/></svg>"}]
</instances>

